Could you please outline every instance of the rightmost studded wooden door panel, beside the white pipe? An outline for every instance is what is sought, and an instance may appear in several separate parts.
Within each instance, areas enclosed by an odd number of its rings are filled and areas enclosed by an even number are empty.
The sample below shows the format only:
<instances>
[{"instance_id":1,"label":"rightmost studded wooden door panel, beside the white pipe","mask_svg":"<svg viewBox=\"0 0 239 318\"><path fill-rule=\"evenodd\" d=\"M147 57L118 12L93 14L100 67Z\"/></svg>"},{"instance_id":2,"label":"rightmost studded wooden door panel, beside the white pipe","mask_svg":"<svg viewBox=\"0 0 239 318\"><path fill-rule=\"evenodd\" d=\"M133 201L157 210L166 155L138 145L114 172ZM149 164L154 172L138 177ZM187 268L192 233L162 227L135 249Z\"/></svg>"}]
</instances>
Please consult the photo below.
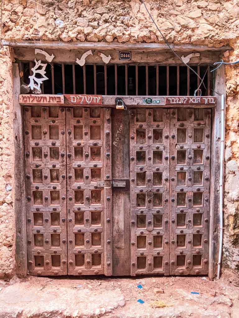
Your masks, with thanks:
<instances>
[{"instance_id":1,"label":"rightmost studded wooden door panel, beside the white pipe","mask_svg":"<svg viewBox=\"0 0 239 318\"><path fill-rule=\"evenodd\" d=\"M170 110L170 274L208 273L211 110Z\"/></svg>"}]
</instances>

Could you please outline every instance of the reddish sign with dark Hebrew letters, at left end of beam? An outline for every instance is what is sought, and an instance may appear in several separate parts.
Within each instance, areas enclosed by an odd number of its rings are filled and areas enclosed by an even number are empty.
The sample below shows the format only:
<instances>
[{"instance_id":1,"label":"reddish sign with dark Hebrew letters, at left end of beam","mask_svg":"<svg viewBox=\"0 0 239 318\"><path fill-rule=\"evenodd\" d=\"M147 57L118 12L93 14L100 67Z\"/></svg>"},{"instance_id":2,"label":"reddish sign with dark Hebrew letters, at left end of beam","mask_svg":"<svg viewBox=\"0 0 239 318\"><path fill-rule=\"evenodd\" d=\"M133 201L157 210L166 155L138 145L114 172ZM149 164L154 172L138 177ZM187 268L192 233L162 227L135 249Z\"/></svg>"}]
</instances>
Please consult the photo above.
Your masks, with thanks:
<instances>
[{"instance_id":1,"label":"reddish sign with dark Hebrew letters, at left end of beam","mask_svg":"<svg viewBox=\"0 0 239 318\"><path fill-rule=\"evenodd\" d=\"M20 94L20 104L64 104L63 95Z\"/></svg>"}]
</instances>

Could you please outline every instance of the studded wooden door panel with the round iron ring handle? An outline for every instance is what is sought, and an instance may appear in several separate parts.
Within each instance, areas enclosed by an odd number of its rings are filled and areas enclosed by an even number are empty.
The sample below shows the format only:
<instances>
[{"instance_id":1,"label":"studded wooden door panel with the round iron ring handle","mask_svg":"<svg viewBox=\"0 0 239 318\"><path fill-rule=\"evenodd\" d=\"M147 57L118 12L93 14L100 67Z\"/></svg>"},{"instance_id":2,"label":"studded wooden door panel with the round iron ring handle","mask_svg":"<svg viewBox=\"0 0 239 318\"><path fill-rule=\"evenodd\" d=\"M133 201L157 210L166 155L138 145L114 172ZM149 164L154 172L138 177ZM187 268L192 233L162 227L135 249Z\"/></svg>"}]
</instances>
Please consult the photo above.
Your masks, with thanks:
<instances>
[{"instance_id":1,"label":"studded wooden door panel with the round iron ring handle","mask_svg":"<svg viewBox=\"0 0 239 318\"><path fill-rule=\"evenodd\" d=\"M169 116L155 108L136 109L131 117L132 276L170 274Z\"/></svg>"}]
</instances>

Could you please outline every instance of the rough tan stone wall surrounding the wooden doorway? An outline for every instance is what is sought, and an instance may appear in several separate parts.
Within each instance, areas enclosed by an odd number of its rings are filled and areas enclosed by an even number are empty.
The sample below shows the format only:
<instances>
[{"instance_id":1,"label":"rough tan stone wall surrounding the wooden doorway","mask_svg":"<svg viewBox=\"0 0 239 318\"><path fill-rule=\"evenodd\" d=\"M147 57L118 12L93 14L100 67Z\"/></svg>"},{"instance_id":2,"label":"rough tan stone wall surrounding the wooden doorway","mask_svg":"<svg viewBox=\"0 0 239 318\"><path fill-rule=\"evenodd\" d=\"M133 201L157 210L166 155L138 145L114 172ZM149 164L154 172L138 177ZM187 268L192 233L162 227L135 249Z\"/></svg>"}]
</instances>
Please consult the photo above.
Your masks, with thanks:
<instances>
[{"instance_id":1,"label":"rough tan stone wall surrounding the wooden doorway","mask_svg":"<svg viewBox=\"0 0 239 318\"><path fill-rule=\"evenodd\" d=\"M43 44L44 41L163 43L160 33L156 31L140 0L34 1L37 4L31 0L3 1L3 38L16 41L39 40L39 29ZM161 30L164 29L163 34L170 43L206 44L218 47L230 45L233 50L225 52L225 60L233 61L239 59L239 5L235 5L236 0L146 0L146 4L159 28ZM232 6L233 8L229 10ZM228 11L220 13L222 10ZM194 23L194 21L199 19L199 22ZM185 25L185 23L189 24ZM171 28L175 25L177 27ZM6 56L5 59L9 62ZM2 72L2 77L7 78L4 87L7 85L7 89L11 91L10 65L2 65L1 68L5 72ZM239 270L238 70L238 66L226 67L227 112L223 265ZM3 90L1 87L1 92ZM9 95L4 94L4 109L1 109L0 113L1 119L4 118L2 129L5 127L11 128L11 123L7 122L4 115L6 114L5 112L10 112L12 102L10 97L7 96ZM9 100L6 100L7 98ZM11 149L9 134L1 139L1 143L4 143L4 147L7 145L7 148ZM3 149L6 149L4 147ZM8 152L9 150L5 151ZM4 154L3 157L4 161L9 158L7 154ZM11 166L11 160L5 161L4 165L1 162L1 165L4 184L11 183L11 169L6 168ZM8 239L0 240L0 249L4 251L4 257L0 257L0 272L3 268L5 273L9 273L13 264L13 251L11 252L11 247L9 247L12 244L13 214L11 198L4 186L0 185L1 204L3 204L2 209L4 210L4 215L0 215L0 220L4 220L4 223L2 222L4 225L0 229L0 238L6 232L6 224L9 229L9 237ZM7 200L7 202L4 200ZM4 265L4 259L8 260L9 258L11 261L5 262L6 265Z\"/></svg>"}]
</instances>

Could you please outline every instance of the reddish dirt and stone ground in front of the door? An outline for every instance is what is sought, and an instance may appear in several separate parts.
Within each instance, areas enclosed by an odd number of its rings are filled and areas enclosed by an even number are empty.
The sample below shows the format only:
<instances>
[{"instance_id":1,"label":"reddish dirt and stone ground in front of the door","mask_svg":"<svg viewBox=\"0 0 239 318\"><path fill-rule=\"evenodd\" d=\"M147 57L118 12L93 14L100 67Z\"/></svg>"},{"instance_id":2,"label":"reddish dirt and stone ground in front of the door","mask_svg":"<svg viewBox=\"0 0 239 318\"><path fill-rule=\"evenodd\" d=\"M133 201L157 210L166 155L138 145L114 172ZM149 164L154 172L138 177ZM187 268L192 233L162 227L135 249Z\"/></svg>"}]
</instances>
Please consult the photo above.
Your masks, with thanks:
<instances>
[{"instance_id":1,"label":"reddish dirt and stone ground in front of the door","mask_svg":"<svg viewBox=\"0 0 239 318\"><path fill-rule=\"evenodd\" d=\"M231 282L230 274L219 281L201 276L14 278L0 281L0 318L238 318L239 287ZM159 300L167 307L157 308Z\"/></svg>"}]
</instances>

